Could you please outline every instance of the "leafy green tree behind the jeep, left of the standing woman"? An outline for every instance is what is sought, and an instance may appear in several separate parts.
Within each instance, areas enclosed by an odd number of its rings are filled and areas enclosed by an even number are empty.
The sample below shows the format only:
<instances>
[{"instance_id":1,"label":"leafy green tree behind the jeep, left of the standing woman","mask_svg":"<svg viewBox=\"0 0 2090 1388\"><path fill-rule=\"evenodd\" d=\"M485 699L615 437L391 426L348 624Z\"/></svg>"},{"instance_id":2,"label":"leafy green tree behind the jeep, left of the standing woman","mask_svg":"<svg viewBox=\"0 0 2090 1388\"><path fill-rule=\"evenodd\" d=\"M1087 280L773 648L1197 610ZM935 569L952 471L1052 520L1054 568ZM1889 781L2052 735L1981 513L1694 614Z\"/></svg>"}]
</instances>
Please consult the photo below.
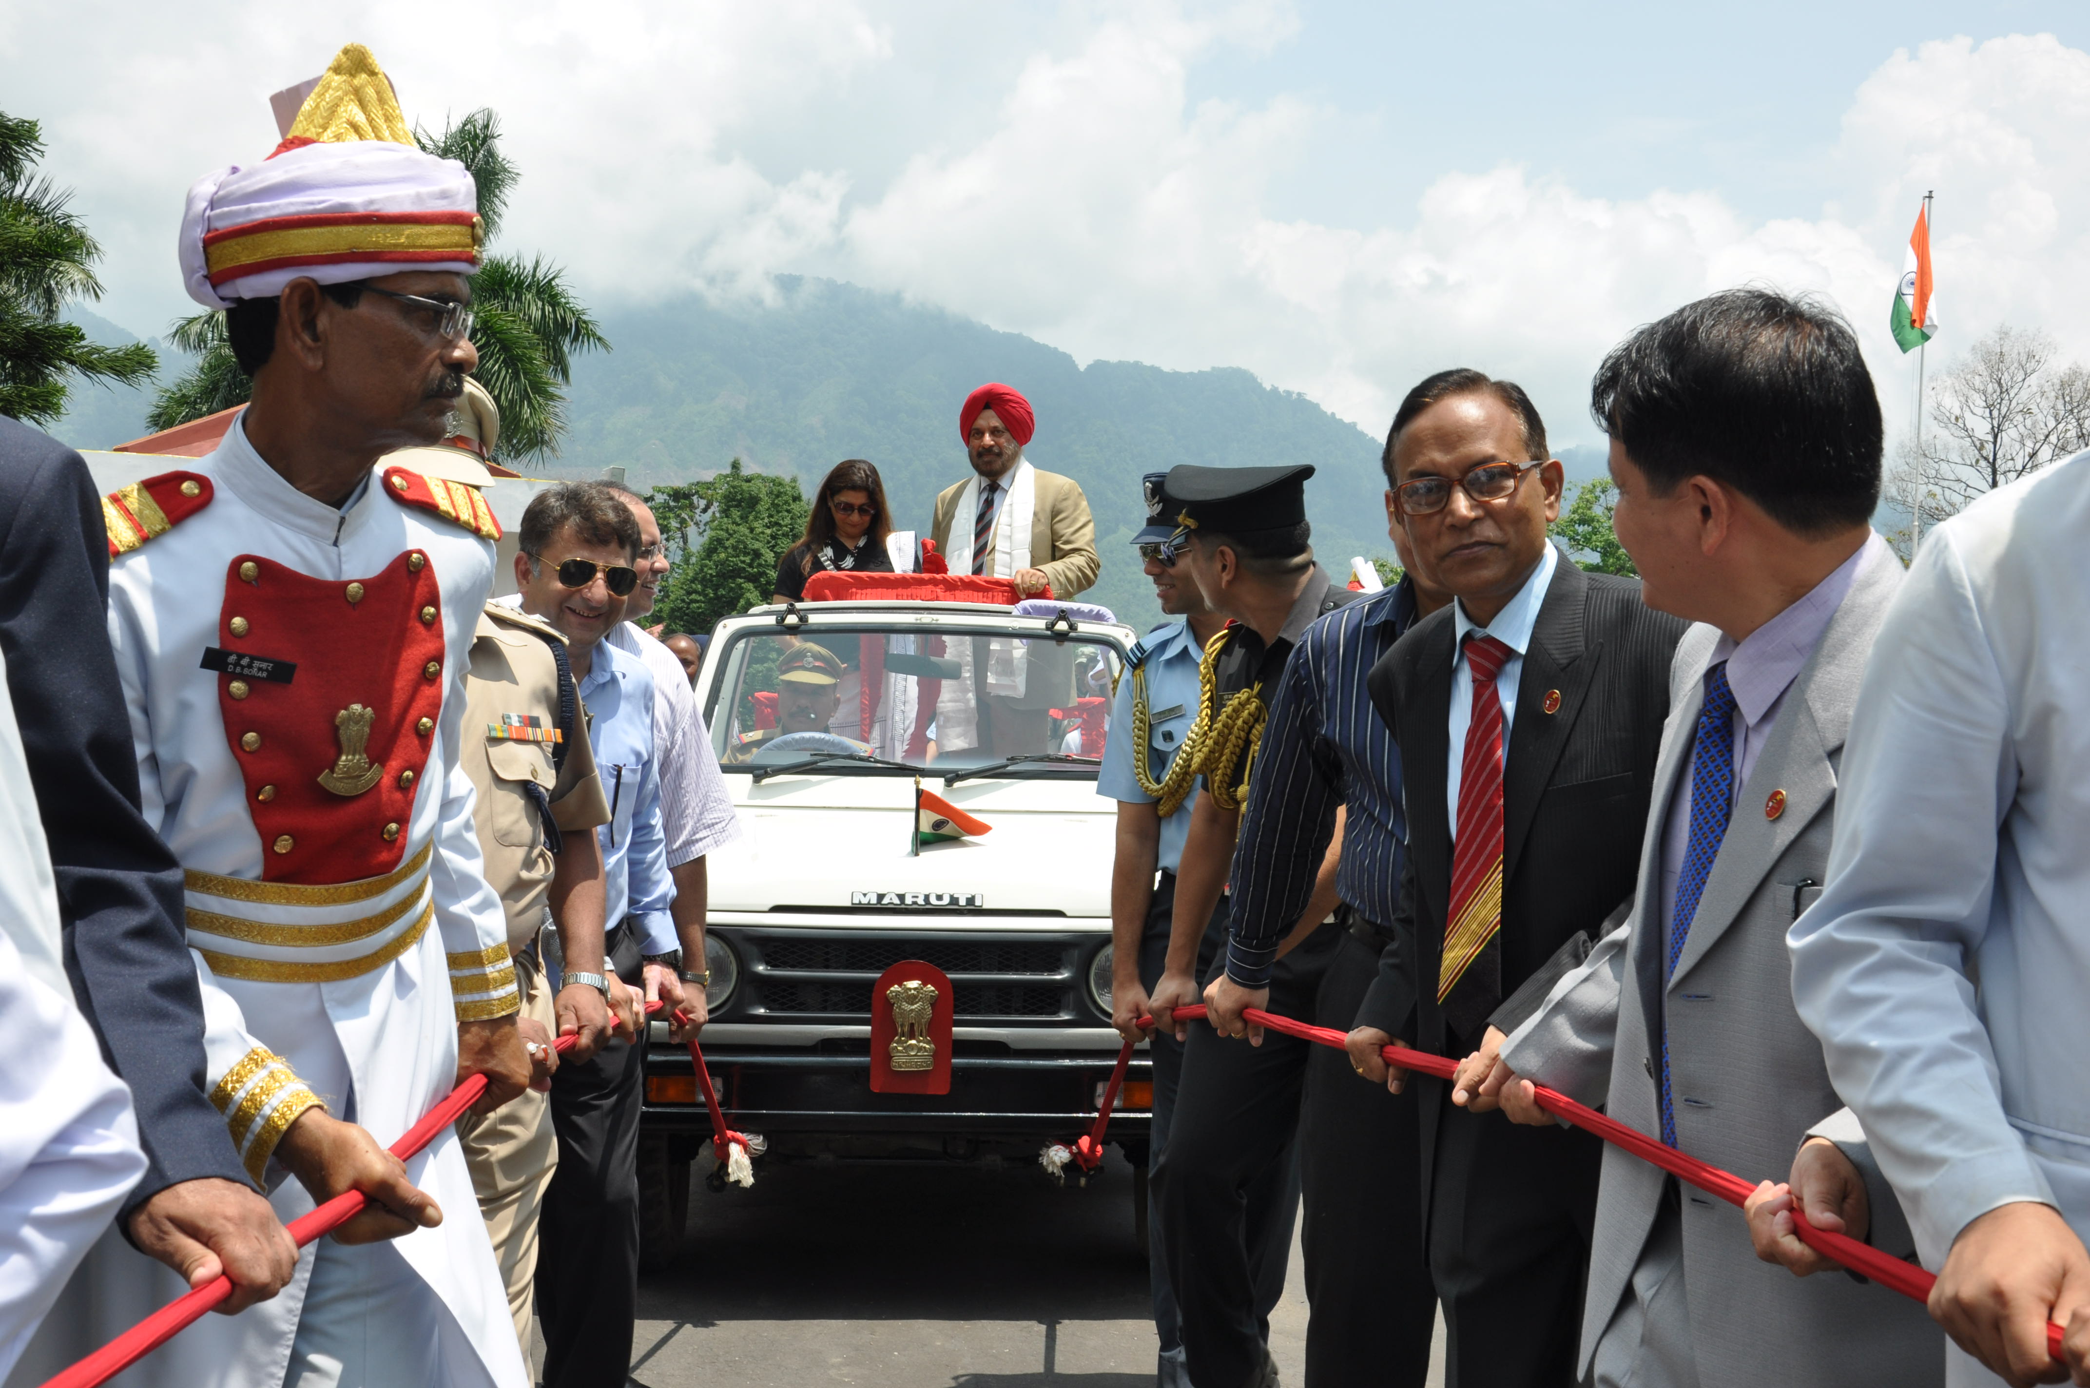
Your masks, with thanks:
<instances>
[{"instance_id":1,"label":"leafy green tree behind the jeep, left of the standing woman","mask_svg":"<svg viewBox=\"0 0 2090 1388\"><path fill-rule=\"evenodd\" d=\"M654 487L646 504L675 562L656 608L669 631L711 631L769 602L777 558L805 535L798 479L748 472L738 458L700 483Z\"/></svg>"}]
</instances>

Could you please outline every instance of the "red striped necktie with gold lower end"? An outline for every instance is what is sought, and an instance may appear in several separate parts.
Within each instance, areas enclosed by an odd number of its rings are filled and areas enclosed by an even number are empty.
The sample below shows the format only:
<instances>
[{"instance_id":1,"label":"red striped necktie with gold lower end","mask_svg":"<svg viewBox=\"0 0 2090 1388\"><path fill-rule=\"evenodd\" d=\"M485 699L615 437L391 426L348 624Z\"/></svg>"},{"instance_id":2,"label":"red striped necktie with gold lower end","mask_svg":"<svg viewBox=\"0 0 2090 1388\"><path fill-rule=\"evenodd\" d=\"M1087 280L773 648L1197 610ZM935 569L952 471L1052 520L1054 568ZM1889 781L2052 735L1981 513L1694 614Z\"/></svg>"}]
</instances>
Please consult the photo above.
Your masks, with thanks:
<instances>
[{"instance_id":1,"label":"red striped necktie with gold lower end","mask_svg":"<svg viewBox=\"0 0 2090 1388\"><path fill-rule=\"evenodd\" d=\"M1450 918L1438 964L1438 1005L1461 1039L1503 1001L1503 700L1494 677L1513 652L1492 635L1467 633L1473 717L1459 763L1459 826L1450 857Z\"/></svg>"}]
</instances>

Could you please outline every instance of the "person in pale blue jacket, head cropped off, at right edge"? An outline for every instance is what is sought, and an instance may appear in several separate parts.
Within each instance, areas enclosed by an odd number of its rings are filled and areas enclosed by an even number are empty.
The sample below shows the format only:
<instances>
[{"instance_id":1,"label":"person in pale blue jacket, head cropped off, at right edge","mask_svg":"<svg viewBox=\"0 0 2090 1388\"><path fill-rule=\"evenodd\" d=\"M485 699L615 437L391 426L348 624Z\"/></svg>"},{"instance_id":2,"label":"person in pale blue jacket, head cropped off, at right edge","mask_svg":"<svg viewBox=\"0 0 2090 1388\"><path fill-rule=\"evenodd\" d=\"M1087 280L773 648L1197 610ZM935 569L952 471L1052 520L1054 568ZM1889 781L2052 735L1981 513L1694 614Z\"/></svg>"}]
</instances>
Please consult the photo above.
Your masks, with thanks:
<instances>
[{"instance_id":1,"label":"person in pale blue jacket, head cropped off, at right edge","mask_svg":"<svg viewBox=\"0 0 2090 1388\"><path fill-rule=\"evenodd\" d=\"M1799 1018L1940 1273L1954 1388L2090 1384L2086 533L2077 454L1923 537L1787 934Z\"/></svg>"}]
</instances>

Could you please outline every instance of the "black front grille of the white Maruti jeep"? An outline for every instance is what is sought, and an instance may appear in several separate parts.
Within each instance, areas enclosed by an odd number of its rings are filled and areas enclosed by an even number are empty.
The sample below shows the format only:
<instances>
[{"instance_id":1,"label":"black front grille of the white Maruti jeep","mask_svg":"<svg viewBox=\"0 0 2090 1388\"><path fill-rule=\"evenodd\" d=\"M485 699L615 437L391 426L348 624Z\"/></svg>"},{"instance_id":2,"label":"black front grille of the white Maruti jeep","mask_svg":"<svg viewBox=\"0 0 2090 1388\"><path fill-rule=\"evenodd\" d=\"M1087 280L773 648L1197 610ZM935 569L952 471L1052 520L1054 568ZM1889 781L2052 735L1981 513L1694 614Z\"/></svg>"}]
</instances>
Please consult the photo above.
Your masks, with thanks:
<instances>
[{"instance_id":1,"label":"black front grille of the white Maruti jeep","mask_svg":"<svg viewBox=\"0 0 2090 1388\"><path fill-rule=\"evenodd\" d=\"M922 936L830 930L723 930L746 962L750 1012L865 1022L872 987L901 959L951 976L953 1014L974 1020L1085 1016L1076 980L1097 939ZM738 1008L736 1008L738 1010Z\"/></svg>"}]
</instances>

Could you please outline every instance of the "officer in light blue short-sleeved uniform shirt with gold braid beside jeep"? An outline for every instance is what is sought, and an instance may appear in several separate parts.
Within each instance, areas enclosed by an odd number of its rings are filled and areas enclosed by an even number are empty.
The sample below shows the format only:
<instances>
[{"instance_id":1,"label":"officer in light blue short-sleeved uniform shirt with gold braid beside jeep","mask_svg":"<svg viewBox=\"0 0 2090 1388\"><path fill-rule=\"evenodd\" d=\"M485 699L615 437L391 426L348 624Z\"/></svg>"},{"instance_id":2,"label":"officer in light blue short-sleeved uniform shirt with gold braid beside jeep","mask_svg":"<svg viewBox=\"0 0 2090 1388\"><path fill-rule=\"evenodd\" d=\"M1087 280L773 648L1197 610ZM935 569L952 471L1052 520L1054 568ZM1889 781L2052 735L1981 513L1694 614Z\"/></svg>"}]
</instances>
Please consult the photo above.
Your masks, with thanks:
<instances>
[{"instance_id":1,"label":"officer in light blue short-sleeved uniform shirt with gold braid beside jeep","mask_svg":"<svg viewBox=\"0 0 2090 1388\"><path fill-rule=\"evenodd\" d=\"M1110 709L1110 742L1095 778L1095 792L1118 803L1118 847L1110 878L1110 1012L1112 1024L1127 1041L1147 1041L1154 1060L1154 1125L1147 1141L1147 1162L1160 1156L1168 1141L1168 1120L1175 1114L1177 1087L1183 1077L1183 1043L1168 1028L1141 1031L1139 1018L1150 1016L1147 991L1160 980L1168 957L1168 924L1175 918L1175 874L1183 861L1183 840L1189 836L1189 809L1198 803L1198 786L1170 786L1168 771L1177 753L1198 721L1198 663L1204 644L1225 625L1204 604L1204 594L1175 569L1166 541L1175 535L1177 506L1162 487L1166 472L1147 472L1147 527L1133 535L1145 573L1154 579L1154 596L1162 612L1177 621L1147 631L1133 648L1131 665L1118 679ZM1135 702L1145 704L1147 734L1135 744ZM1145 757L1145 767L1137 765ZM1141 776L1141 769L1145 776ZM1181 778L1177 778L1181 780ZM1168 803L1168 813L1162 813ZM1198 957L1198 976L1212 964L1218 943L1227 936L1227 899L1221 897ZM1283 1173L1279 1173L1283 1175ZM1260 1194L1260 1192L1258 1192ZM1258 1204L1281 1212L1283 1181ZM1154 1227L1156 1212L1147 1206L1147 1281L1154 1296L1154 1329L1160 1336L1160 1388L1189 1384L1183 1363L1183 1338L1177 1327L1175 1292L1162 1263L1162 1240ZM1275 1221L1250 1221L1256 1233ZM1279 1244L1260 1248L1260 1244ZM1256 1260L1258 1311L1269 1313L1283 1294L1285 1254L1290 1237L1260 1240ZM1264 1298L1262 1292L1269 1292ZM1262 1304L1269 1302L1269 1304Z\"/></svg>"}]
</instances>

